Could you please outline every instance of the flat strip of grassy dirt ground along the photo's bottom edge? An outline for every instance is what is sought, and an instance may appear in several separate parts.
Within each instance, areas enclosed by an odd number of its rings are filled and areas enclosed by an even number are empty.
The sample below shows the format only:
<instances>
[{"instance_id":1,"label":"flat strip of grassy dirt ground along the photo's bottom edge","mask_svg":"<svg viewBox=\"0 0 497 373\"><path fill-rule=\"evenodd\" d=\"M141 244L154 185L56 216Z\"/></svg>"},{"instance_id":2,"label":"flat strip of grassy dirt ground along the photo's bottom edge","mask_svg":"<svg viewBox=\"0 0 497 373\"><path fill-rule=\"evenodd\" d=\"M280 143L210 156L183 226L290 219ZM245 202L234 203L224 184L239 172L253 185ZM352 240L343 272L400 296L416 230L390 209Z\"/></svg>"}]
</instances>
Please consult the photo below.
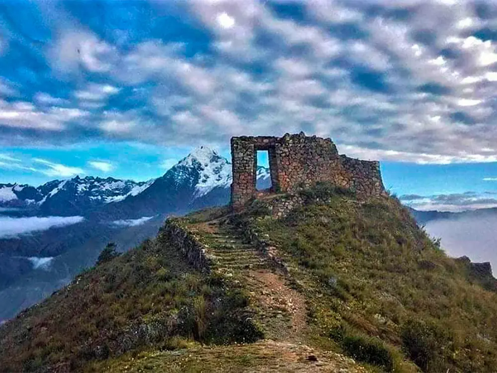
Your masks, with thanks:
<instances>
[{"instance_id":1,"label":"flat strip of grassy dirt ground along the photo's bottom edge","mask_svg":"<svg viewBox=\"0 0 497 373\"><path fill-rule=\"evenodd\" d=\"M122 360L106 372L195 373L364 373L363 367L343 355L306 345L265 340L248 345L197 347L143 354Z\"/></svg>"}]
</instances>

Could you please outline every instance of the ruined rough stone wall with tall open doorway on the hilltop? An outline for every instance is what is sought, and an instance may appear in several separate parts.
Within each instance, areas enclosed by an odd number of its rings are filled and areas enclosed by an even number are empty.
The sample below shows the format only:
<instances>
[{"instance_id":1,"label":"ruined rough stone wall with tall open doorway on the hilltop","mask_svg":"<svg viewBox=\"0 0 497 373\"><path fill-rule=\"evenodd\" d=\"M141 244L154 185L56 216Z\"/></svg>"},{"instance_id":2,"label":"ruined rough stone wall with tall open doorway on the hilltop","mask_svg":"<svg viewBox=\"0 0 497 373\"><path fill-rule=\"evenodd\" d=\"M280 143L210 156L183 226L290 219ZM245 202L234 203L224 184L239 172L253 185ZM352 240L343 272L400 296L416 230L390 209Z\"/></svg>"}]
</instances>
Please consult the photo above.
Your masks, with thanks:
<instances>
[{"instance_id":1,"label":"ruined rough stone wall with tall open doorway on the hilltop","mask_svg":"<svg viewBox=\"0 0 497 373\"><path fill-rule=\"evenodd\" d=\"M268 152L271 174L272 186L264 191L255 187L259 150ZM304 132L283 137L232 137L231 156L231 203L235 209L264 193L294 192L318 182L331 182L363 196L385 194L379 162L338 154L330 138L306 136Z\"/></svg>"}]
</instances>

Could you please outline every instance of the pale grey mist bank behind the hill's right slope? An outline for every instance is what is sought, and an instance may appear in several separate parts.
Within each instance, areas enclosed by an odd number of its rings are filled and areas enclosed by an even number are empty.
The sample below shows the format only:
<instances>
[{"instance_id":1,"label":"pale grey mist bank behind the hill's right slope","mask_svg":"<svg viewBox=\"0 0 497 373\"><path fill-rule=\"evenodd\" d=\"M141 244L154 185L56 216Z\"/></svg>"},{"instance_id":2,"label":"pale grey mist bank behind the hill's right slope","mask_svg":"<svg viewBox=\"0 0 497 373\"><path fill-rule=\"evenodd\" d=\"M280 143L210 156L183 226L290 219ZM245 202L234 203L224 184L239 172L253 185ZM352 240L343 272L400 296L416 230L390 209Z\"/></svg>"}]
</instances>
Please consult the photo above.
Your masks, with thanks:
<instances>
[{"instance_id":1,"label":"pale grey mist bank behind the hill's right slope","mask_svg":"<svg viewBox=\"0 0 497 373\"><path fill-rule=\"evenodd\" d=\"M463 255L472 262L490 262L497 268L497 216L459 217L432 220L425 229L431 236L440 237L441 246L451 257Z\"/></svg>"}]
</instances>

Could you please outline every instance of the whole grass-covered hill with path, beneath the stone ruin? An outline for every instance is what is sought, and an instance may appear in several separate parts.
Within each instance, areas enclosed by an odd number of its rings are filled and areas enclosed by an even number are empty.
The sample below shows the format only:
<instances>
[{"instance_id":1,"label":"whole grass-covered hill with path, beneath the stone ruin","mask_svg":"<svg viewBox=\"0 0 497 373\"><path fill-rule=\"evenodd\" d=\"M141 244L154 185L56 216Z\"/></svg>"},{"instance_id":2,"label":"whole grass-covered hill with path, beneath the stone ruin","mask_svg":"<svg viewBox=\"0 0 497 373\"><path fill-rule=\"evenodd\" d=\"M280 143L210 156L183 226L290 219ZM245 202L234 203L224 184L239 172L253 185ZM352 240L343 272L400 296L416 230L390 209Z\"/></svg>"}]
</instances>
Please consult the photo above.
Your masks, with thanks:
<instances>
[{"instance_id":1,"label":"whole grass-covered hill with path, beneath the stone ruin","mask_svg":"<svg viewBox=\"0 0 497 373\"><path fill-rule=\"evenodd\" d=\"M497 371L495 279L448 258L394 197L302 196L280 219L264 200L176 219L210 274L164 231L89 269L0 327L0 371Z\"/></svg>"}]
</instances>

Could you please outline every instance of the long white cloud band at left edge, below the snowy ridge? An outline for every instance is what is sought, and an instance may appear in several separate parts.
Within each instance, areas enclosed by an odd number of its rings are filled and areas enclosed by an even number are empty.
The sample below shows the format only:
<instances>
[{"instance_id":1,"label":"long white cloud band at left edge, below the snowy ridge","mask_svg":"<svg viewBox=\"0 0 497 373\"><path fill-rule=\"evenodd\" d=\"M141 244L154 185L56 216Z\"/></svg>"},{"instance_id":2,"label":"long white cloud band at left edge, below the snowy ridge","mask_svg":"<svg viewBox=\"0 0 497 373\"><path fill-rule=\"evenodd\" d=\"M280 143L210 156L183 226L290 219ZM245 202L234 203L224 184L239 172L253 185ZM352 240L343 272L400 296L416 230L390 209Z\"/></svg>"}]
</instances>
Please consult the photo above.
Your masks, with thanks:
<instances>
[{"instance_id":1,"label":"long white cloud band at left edge, below the snowy ridge","mask_svg":"<svg viewBox=\"0 0 497 373\"><path fill-rule=\"evenodd\" d=\"M44 231L54 227L76 224L83 221L83 216L47 216L47 217L9 217L0 216L0 238L15 237L35 231Z\"/></svg>"}]
</instances>

